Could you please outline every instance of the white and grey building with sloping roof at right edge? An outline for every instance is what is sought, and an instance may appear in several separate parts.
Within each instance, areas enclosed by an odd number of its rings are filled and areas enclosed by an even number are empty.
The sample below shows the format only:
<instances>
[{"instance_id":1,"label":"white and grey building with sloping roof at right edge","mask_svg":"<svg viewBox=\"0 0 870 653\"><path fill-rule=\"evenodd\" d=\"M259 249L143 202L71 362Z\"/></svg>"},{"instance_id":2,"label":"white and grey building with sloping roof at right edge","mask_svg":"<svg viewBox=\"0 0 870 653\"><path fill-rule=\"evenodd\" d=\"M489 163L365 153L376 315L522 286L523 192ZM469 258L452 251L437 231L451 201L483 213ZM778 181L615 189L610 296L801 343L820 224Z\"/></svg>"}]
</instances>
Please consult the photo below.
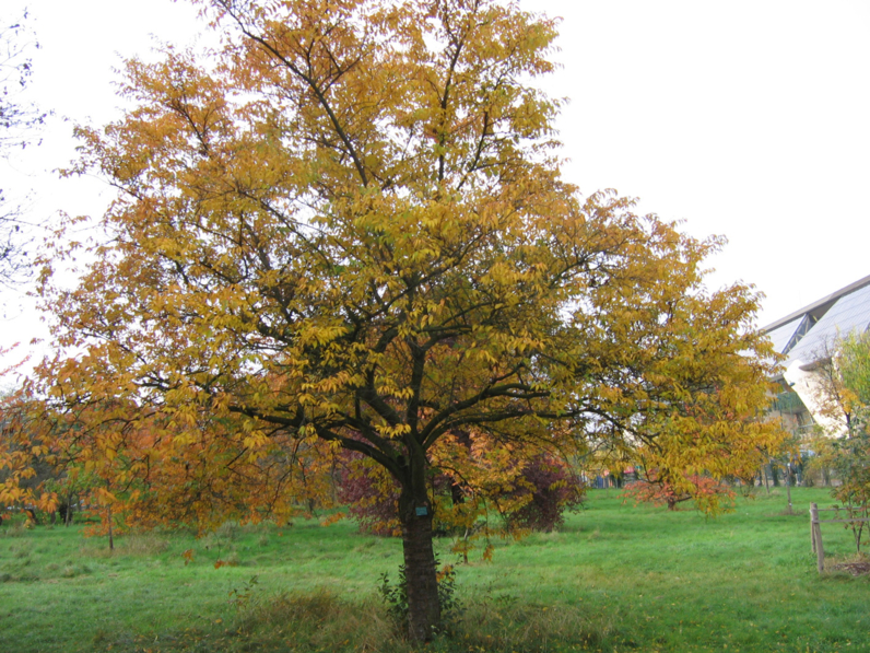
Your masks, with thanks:
<instances>
[{"instance_id":1,"label":"white and grey building with sloping roof at right edge","mask_svg":"<svg viewBox=\"0 0 870 653\"><path fill-rule=\"evenodd\" d=\"M821 369L831 361L838 336L870 328L870 277L865 277L764 327L774 349L786 355L785 371L776 377L781 392L774 410L786 428L802 433L814 425L827 433L846 425L823 415L819 406Z\"/></svg>"}]
</instances>

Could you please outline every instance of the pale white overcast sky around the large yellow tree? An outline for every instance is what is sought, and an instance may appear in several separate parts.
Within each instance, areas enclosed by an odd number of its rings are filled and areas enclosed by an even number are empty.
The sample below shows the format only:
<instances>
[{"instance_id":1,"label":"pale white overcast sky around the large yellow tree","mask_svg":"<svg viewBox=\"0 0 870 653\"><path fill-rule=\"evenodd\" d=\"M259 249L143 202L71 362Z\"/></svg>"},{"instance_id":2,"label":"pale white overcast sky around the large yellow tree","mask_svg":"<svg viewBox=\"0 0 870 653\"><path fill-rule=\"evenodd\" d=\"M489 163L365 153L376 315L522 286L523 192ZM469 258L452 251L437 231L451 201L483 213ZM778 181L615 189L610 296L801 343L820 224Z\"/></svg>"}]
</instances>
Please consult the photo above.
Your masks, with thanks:
<instances>
[{"instance_id":1,"label":"pale white overcast sky around the large yellow tree","mask_svg":"<svg viewBox=\"0 0 870 653\"><path fill-rule=\"evenodd\" d=\"M0 187L33 222L98 215L105 183L55 172L75 158L73 125L117 118L122 60L152 56L155 38L190 44L202 24L171 0L2 0L0 19L28 5L40 48L26 97L54 115L39 147L0 161ZM581 193L614 188L696 237L725 235L708 285L754 284L759 326L870 275L870 2L520 5L562 18L545 88L569 100L563 174ZM33 302L21 290L0 301L0 348L46 351L27 345L45 334Z\"/></svg>"}]
</instances>

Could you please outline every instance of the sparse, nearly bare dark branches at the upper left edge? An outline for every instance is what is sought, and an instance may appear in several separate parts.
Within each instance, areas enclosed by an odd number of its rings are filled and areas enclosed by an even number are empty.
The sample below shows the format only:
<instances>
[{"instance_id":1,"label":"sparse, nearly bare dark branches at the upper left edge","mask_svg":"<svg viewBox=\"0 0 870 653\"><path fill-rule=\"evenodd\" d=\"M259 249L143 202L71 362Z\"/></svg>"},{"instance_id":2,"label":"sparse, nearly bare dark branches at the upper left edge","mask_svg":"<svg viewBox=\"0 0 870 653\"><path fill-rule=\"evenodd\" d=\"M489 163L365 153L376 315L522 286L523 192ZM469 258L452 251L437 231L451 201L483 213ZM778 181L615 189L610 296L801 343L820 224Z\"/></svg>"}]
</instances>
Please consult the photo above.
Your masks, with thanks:
<instances>
[{"instance_id":1,"label":"sparse, nearly bare dark branches at the upper left edge","mask_svg":"<svg viewBox=\"0 0 870 653\"><path fill-rule=\"evenodd\" d=\"M26 44L22 43L30 36L26 19L25 11L21 22L0 26L0 158L31 144L46 118L45 113L19 100L33 72L31 59L25 57ZM0 283L9 284L21 279L28 266L21 207L10 203L4 190L0 188Z\"/></svg>"}]
</instances>

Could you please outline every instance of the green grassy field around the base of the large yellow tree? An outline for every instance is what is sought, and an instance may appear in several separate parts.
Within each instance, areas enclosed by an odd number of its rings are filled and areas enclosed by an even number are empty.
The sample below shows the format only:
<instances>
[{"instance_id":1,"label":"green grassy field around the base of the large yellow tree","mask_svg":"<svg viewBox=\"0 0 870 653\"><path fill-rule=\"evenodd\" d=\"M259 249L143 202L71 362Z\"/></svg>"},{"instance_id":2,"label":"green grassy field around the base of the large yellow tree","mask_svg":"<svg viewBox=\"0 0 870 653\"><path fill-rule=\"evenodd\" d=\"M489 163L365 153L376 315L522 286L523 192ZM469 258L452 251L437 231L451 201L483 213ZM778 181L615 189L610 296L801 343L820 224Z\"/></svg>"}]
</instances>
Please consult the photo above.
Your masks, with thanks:
<instances>
[{"instance_id":1,"label":"green grassy field around the base of the large yellow tree","mask_svg":"<svg viewBox=\"0 0 870 653\"><path fill-rule=\"evenodd\" d=\"M783 490L760 490L708 520L592 491L561 532L457 565L462 610L426 649L870 651L870 578L815 571L807 509L827 491L793 501L786 515ZM831 555L854 553L849 532L823 535ZM443 562L450 544L436 545ZM131 535L111 555L78 528L7 525L0 651L410 651L376 592L400 563L398 540L350 522Z\"/></svg>"}]
</instances>

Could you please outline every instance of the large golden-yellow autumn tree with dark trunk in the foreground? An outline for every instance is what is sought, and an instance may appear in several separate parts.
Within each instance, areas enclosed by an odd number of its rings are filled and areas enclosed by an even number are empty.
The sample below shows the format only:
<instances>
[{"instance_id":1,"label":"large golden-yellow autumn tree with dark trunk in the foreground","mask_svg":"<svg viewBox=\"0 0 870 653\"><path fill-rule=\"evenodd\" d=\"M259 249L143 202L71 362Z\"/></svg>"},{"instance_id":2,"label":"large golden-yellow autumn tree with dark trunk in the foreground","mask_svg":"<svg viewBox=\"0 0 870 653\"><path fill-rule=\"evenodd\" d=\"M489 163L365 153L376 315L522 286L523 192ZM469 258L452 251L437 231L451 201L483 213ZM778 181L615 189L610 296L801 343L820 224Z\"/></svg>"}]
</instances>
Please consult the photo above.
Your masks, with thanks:
<instances>
[{"instance_id":1,"label":"large golden-yellow autumn tree with dark trunk in the foreground","mask_svg":"<svg viewBox=\"0 0 870 653\"><path fill-rule=\"evenodd\" d=\"M31 388L43 423L111 462L142 514L290 511L356 452L399 487L425 640L428 473L457 433L644 446L714 476L779 438L757 419L757 295L703 284L721 240L561 178L560 103L528 85L555 21L491 0L201 4L223 49L130 61L137 108L80 129L77 171L119 195L79 288L46 270L42 290L69 352Z\"/></svg>"}]
</instances>

